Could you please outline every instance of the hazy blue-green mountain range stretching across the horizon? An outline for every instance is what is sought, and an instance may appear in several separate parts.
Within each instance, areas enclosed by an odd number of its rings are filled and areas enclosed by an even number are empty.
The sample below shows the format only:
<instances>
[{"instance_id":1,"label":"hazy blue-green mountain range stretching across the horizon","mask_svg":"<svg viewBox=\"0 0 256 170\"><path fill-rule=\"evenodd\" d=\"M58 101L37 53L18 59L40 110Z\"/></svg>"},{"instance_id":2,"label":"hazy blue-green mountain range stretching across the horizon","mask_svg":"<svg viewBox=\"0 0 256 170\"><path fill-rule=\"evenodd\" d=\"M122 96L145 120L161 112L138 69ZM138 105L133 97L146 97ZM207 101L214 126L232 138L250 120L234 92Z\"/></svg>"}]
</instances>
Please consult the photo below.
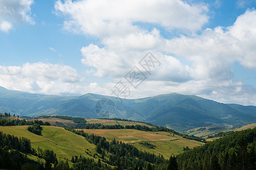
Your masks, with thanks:
<instances>
[{"instance_id":1,"label":"hazy blue-green mountain range stretching across the horizon","mask_svg":"<svg viewBox=\"0 0 256 170\"><path fill-rule=\"evenodd\" d=\"M241 126L256 122L256 107L224 104L194 95L166 94L142 99L85 94L28 94L0 87L0 112L19 116L118 117L151 122L177 131L201 126Z\"/></svg>"}]
</instances>

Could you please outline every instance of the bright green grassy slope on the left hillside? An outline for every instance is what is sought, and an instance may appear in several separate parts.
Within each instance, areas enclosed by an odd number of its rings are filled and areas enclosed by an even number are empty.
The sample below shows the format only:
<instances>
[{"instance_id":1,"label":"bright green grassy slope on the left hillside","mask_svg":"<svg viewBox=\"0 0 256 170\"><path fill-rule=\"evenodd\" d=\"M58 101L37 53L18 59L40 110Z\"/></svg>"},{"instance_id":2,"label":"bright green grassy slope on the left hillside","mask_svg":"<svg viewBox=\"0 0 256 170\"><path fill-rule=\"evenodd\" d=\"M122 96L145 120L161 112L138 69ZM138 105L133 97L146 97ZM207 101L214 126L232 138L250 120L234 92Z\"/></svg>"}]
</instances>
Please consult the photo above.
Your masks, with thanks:
<instances>
[{"instance_id":1,"label":"bright green grassy slope on the left hillside","mask_svg":"<svg viewBox=\"0 0 256 170\"><path fill-rule=\"evenodd\" d=\"M55 126L42 126L42 136L31 133L27 130L27 126L0 126L0 131L11 134L16 137L25 137L30 139L31 146L35 149L38 147L43 150L53 150L57 157L71 160L72 155L84 155L91 158L90 155L96 153L95 145L86 141L80 135L71 133L64 128ZM88 149L89 154L85 153Z\"/></svg>"}]
</instances>

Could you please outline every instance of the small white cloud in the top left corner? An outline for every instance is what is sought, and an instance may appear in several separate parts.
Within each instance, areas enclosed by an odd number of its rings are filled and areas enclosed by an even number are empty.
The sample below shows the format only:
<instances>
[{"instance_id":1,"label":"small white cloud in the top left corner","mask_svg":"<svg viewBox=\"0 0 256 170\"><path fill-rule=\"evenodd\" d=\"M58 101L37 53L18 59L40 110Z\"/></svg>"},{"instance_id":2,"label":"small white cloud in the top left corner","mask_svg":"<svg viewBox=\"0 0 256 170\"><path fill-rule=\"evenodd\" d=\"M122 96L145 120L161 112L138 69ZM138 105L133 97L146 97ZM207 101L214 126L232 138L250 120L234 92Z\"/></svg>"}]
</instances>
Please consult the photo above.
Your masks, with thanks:
<instances>
[{"instance_id":1,"label":"small white cloud in the top left corner","mask_svg":"<svg viewBox=\"0 0 256 170\"><path fill-rule=\"evenodd\" d=\"M31 17L33 0L2 0L0 1L0 30L9 32L14 23L27 22L35 24Z\"/></svg>"}]
</instances>

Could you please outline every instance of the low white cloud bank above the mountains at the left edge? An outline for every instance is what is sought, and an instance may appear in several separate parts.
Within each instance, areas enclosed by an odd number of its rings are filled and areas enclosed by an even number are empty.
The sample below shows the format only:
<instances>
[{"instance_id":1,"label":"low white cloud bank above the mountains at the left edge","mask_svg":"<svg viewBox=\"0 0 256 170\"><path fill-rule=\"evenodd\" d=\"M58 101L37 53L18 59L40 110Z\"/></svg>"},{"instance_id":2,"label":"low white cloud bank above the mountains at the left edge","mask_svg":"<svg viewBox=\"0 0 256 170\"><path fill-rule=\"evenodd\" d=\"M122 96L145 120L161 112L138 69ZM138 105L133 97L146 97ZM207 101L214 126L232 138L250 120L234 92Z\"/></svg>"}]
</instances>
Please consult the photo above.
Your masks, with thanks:
<instances>
[{"instance_id":1,"label":"low white cloud bank above the mountains at the left edge","mask_svg":"<svg viewBox=\"0 0 256 170\"><path fill-rule=\"evenodd\" d=\"M0 86L10 90L43 94L79 92L82 86L77 84L83 81L70 66L42 62L25 63L23 66L0 66L0 78Z\"/></svg>"}]
</instances>

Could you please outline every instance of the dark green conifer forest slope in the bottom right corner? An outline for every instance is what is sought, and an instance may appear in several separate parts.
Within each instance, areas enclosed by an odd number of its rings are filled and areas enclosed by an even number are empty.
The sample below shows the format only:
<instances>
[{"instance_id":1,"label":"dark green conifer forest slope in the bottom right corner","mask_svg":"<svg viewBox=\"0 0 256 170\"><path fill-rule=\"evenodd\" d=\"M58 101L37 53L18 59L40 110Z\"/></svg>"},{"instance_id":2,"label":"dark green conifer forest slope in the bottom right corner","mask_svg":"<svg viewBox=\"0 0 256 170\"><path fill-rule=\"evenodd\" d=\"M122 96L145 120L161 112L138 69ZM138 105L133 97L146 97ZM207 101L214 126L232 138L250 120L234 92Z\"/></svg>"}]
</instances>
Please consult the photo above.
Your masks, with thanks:
<instances>
[{"instance_id":1,"label":"dark green conifer forest slope in the bottom right corner","mask_svg":"<svg viewBox=\"0 0 256 170\"><path fill-rule=\"evenodd\" d=\"M256 128L233 134L177 156L179 169L256 169Z\"/></svg>"}]
</instances>

